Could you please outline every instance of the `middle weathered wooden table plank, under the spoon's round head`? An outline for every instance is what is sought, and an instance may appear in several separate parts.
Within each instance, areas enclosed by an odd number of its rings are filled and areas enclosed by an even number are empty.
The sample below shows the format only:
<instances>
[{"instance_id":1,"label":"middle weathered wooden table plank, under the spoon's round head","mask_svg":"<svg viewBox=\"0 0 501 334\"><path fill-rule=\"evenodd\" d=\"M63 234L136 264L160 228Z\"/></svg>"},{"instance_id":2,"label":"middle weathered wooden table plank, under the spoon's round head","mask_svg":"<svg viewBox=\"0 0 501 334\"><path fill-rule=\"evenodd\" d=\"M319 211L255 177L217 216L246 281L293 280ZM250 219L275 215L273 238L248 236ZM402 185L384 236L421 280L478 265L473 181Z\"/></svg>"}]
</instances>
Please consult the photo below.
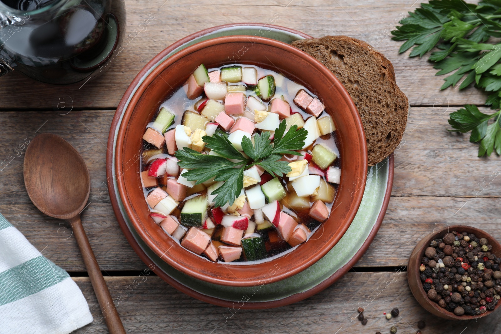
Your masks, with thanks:
<instances>
[{"instance_id":1,"label":"middle weathered wooden table plank, under the spoon's round head","mask_svg":"<svg viewBox=\"0 0 501 334\"><path fill-rule=\"evenodd\" d=\"M467 137L447 133L446 114L434 115L433 111L412 108L406 142L396 151L393 197L382 227L358 267L405 263L415 242L431 233L434 223L469 224L501 239L497 228L500 179L482 184L485 190L474 197L477 182L482 177L488 182L492 171L498 170L499 158L476 158L476 146ZM61 135L72 143L91 174L90 205L82 219L100 265L103 270L141 270L144 263L119 229L107 194L105 154L112 117L113 111L80 111L65 116L53 112L0 114L0 123L4 124L0 134L4 143L0 147L0 165L4 161L0 166L0 212L66 270L85 270L73 236L68 238L71 230L35 208L24 190L24 155L10 161L9 154L19 155L14 149L41 132ZM395 248L399 251L393 252Z\"/></svg>"}]
</instances>

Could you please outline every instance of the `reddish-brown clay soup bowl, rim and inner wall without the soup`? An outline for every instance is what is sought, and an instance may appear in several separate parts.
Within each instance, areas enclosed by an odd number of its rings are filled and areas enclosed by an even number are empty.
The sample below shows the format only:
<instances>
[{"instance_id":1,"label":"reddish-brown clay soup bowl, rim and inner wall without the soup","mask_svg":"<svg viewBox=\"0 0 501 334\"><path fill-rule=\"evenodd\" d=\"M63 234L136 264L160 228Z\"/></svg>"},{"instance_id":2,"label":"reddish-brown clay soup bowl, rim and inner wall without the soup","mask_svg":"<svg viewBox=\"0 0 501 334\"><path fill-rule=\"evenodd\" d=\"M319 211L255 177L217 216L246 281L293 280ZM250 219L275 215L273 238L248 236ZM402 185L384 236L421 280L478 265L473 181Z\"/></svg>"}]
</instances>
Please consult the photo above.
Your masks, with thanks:
<instances>
[{"instance_id":1,"label":"reddish-brown clay soup bowl, rim and inner wall without the soup","mask_svg":"<svg viewBox=\"0 0 501 334\"><path fill-rule=\"evenodd\" d=\"M281 72L318 95L336 124L343 171L331 215L310 240L287 256L252 265L211 262L180 246L148 217L149 209L139 175L141 138L160 104L200 63L212 68L228 64L230 59ZM176 117L176 122L179 122L179 117ZM367 177L367 146L362 122L345 88L311 56L288 44L262 37L214 38L187 47L166 59L148 74L132 96L120 124L115 154L117 173L114 177L124 209L145 243L177 270L204 281L230 286L276 282L322 258L353 221Z\"/></svg>"}]
</instances>

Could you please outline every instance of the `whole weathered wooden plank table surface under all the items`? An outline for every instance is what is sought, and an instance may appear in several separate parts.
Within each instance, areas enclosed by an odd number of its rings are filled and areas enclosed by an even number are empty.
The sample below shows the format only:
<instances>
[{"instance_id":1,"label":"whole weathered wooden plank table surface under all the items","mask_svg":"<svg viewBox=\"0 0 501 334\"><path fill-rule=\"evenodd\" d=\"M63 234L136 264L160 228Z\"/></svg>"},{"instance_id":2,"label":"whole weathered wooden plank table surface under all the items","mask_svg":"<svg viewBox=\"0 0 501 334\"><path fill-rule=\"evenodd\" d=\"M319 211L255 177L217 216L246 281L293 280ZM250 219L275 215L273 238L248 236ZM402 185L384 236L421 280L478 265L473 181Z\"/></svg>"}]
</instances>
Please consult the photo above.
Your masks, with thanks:
<instances>
[{"instance_id":1,"label":"whole weathered wooden plank table surface under all the items","mask_svg":"<svg viewBox=\"0 0 501 334\"><path fill-rule=\"evenodd\" d=\"M448 114L464 104L484 105L485 95L469 88L440 91L442 77L425 60L398 55L401 43L390 40L395 22L418 6L413 0L276 1L126 1L127 30L146 17L155 19L137 34L101 78L83 87L44 87L13 73L0 79L2 132L0 212L49 259L68 270L81 287L94 322L77 333L107 332L71 229L41 214L30 202L23 181L23 156L14 150L41 132L61 135L84 157L92 178L89 206L82 220L111 294L122 301L118 311L130 333L363 332L423 333L501 332L499 311L478 321L445 321L420 307L407 285L407 263L415 243L437 226L468 224L501 239L500 160L477 158L468 136L447 132ZM109 125L122 94L138 71L176 40L212 26L269 23L321 37L347 35L364 40L386 55L397 83L408 96L407 131L395 152L392 198L374 242L357 265L337 283L301 302L265 310L229 310L193 299L153 274L134 253L119 229L107 194L105 153ZM73 101L73 110L67 115ZM487 108L481 108L488 110ZM64 111L64 112L63 112ZM11 156L9 156L11 155ZM10 157L14 156L11 160ZM8 159L8 160L4 160ZM366 326L355 318L365 308ZM387 320L393 307L400 316ZM63 315L62 315L63 316ZM0 316L1 318L1 316ZM464 331L463 331L464 330Z\"/></svg>"}]
</instances>

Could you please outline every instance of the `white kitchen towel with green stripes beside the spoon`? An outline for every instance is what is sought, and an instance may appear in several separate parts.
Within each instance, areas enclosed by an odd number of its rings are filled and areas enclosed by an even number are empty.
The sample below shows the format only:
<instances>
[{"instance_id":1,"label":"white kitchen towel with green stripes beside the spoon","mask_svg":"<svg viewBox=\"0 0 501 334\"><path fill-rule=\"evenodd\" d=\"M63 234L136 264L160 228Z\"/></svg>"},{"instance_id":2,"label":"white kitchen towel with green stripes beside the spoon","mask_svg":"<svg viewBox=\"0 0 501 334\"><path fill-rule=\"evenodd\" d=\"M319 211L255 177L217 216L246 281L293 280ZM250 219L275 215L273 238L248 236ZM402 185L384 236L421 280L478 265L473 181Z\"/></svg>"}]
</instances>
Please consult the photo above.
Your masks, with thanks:
<instances>
[{"instance_id":1,"label":"white kitchen towel with green stripes beside the spoon","mask_svg":"<svg viewBox=\"0 0 501 334\"><path fill-rule=\"evenodd\" d=\"M90 322L73 279L0 213L0 334L66 334Z\"/></svg>"}]
</instances>

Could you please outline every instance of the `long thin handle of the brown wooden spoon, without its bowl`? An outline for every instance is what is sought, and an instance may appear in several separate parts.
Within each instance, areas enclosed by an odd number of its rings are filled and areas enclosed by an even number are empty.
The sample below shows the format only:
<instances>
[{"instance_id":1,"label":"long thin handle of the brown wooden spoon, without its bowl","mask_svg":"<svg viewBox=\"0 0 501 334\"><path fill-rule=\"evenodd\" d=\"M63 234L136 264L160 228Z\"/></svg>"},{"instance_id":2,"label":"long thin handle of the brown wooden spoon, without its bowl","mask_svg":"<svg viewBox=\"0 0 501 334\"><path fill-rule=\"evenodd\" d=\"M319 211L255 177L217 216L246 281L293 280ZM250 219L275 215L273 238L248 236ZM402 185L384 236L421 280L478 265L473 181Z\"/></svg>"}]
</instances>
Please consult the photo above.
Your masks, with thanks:
<instances>
[{"instance_id":1,"label":"long thin handle of the brown wooden spoon, without its bowl","mask_svg":"<svg viewBox=\"0 0 501 334\"><path fill-rule=\"evenodd\" d=\"M80 215L71 219L70 223L73 225L73 233L75 234L75 239L77 239L80 253L84 259L85 267L89 273L92 287L94 288L97 300L99 301L99 306L101 306L101 311L103 312L103 317L106 321L106 325L108 326L108 330L110 331L110 334L125 334L126 332L124 326L120 320L117 309L113 304L113 298L111 297L108 286L104 281L103 274L101 273L99 264L96 261L89 239L87 239L87 235L85 234L82 221L80 220Z\"/></svg>"}]
</instances>

